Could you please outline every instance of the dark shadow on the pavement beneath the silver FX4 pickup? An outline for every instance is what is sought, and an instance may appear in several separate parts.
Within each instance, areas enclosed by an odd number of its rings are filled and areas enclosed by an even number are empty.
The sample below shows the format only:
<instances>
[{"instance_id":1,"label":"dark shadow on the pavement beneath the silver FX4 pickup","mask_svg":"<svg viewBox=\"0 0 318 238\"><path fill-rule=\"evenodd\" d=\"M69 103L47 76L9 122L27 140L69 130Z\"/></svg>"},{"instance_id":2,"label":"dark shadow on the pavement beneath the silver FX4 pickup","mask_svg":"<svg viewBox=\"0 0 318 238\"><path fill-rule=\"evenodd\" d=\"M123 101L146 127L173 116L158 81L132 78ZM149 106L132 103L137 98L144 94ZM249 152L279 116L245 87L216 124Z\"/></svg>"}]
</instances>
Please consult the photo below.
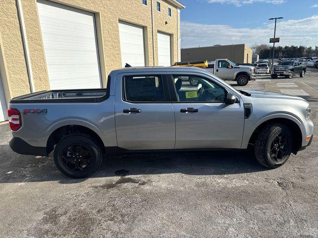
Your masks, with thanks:
<instances>
[{"instance_id":1,"label":"dark shadow on the pavement beneath the silver FX4 pickup","mask_svg":"<svg viewBox=\"0 0 318 238\"><path fill-rule=\"evenodd\" d=\"M59 181L79 183L56 168L52 158L18 155L0 145L0 184ZM187 175L230 175L265 171L253 155L244 151L174 152L111 156L90 178L182 173Z\"/></svg>"}]
</instances>

